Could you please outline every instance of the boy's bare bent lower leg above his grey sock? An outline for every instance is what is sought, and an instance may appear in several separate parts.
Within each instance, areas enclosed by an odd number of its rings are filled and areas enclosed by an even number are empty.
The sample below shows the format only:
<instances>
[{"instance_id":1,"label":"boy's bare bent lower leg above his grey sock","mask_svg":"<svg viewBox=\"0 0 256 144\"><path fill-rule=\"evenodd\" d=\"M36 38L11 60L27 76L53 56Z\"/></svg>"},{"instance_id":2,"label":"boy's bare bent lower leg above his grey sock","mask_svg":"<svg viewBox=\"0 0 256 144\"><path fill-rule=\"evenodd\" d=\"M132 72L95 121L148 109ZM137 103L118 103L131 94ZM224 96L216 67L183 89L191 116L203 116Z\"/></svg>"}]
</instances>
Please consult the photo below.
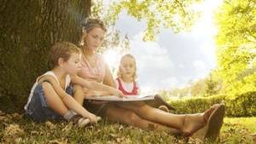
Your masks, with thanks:
<instances>
[{"instance_id":1,"label":"boy's bare bent lower leg above his grey sock","mask_svg":"<svg viewBox=\"0 0 256 144\"><path fill-rule=\"evenodd\" d=\"M61 98L56 94L55 89L48 82L44 82L42 86L49 107L63 117L67 113L68 109L61 101Z\"/></svg>"}]
</instances>

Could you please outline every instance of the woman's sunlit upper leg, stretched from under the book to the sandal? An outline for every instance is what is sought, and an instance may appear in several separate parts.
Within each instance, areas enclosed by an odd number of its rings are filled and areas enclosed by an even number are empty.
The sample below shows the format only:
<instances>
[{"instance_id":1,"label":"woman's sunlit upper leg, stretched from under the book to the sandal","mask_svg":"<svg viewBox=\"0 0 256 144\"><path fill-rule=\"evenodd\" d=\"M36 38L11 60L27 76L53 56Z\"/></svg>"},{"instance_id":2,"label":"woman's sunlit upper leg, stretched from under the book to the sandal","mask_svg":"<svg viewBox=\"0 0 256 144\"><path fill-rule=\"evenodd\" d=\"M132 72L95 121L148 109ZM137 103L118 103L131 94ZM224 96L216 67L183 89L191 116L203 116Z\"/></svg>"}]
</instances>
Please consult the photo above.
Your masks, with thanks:
<instances>
[{"instance_id":1,"label":"woman's sunlit upper leg, stretched from under the book to the sandal","mask_svg":"<svg viewBox=\"0 0 256 144\"><path fill-rule=\"evenodd\" d=\"M149 107L143 103L143 101L137 101L136 103L125 102L120 104L119 107L130 109L133 112L136 112L137 115L141 118L183 131L195 132L206 124L204 121L204 113L187 115L172 114L169 112L161 111L160 109L154 107Z\"/></svg>"}]
</instances>

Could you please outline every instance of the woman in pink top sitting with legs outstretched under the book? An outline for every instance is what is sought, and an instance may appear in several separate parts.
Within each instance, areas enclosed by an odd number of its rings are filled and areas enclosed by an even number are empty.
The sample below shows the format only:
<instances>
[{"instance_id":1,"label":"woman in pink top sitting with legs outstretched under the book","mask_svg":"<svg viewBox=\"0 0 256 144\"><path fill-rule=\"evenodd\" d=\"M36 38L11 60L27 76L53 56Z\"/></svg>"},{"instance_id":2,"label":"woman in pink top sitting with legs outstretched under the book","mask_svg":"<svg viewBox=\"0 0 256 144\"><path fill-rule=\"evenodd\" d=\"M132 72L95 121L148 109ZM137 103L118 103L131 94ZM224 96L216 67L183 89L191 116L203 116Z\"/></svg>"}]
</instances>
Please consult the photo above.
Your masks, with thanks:
<instances>
[{"instance_id":1,"label":"woman in pink top sitting with legs outstretched under the book","mask_svg":"<svg viewBox=\"0 0 256 144\"><path fill-rule=\"evenodd\" d=\"M82 68L79 77L116 88L112 73L102 55L96 50L102 45L107 28L102 20L88 18L83 23ZM91 91L74 85L74 98L89 112L107 118L113 123L130 124L142 129L165 130L175 135L215 141L223 124L224 105L214 104L206 112L195 114L172 114L150 107L143 101L95 102L84 101L84 95L109 95L108 92Z\"/></svg>"}]
</instances>

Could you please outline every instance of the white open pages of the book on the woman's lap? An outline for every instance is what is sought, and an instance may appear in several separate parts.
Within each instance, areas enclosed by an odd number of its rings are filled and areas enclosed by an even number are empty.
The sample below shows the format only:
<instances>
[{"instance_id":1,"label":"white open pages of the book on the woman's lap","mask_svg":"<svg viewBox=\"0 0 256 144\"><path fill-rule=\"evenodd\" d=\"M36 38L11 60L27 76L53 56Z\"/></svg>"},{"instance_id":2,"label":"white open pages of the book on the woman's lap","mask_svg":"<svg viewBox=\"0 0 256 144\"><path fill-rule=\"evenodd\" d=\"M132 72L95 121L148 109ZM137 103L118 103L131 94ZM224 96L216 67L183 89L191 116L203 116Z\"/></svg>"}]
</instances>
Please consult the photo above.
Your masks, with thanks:
<instances>
[{"instance_id":1,"label":"white open pages of the book on the woman's lap","mask_svg":"<svg viewBox=\"0 0 256 144\"><path fill-rule=\"evenodd\" d=\"M94 101L148 101L154 100L154 95L126 95L123 98L114 95L104 95L84 97L84 99Z\"/></svg>"}]
</instances>

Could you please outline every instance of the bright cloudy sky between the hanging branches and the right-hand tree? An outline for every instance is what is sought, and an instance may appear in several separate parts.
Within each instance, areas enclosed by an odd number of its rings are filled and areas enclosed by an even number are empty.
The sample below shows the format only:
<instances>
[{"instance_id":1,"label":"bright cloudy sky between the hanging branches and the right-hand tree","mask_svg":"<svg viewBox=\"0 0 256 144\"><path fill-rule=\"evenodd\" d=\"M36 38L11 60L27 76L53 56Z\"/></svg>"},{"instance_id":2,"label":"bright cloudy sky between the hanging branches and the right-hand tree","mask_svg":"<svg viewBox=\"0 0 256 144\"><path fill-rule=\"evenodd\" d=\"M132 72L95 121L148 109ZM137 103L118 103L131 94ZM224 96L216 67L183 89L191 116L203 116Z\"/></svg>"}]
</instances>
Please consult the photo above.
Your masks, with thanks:
<instances>
[{"instance_id":1,"label":"bright cloudy sky between the hanging branches and the right-hand tree","mask_svg":"<svg viewBox=\"0 0 256 144\"><path fill-rule=\"evenodd\" d=\"M130 38L131 54L137 59L138 82L143 91L182 87L189 79L205 78L216 66L212 9L221 2L202 3L201 19L192 32L174 34L162 28L157 40L147 43L143 42L146 22L137 21L125 12L119 14L115 28Z\"/></svg>"}]
</instances>

